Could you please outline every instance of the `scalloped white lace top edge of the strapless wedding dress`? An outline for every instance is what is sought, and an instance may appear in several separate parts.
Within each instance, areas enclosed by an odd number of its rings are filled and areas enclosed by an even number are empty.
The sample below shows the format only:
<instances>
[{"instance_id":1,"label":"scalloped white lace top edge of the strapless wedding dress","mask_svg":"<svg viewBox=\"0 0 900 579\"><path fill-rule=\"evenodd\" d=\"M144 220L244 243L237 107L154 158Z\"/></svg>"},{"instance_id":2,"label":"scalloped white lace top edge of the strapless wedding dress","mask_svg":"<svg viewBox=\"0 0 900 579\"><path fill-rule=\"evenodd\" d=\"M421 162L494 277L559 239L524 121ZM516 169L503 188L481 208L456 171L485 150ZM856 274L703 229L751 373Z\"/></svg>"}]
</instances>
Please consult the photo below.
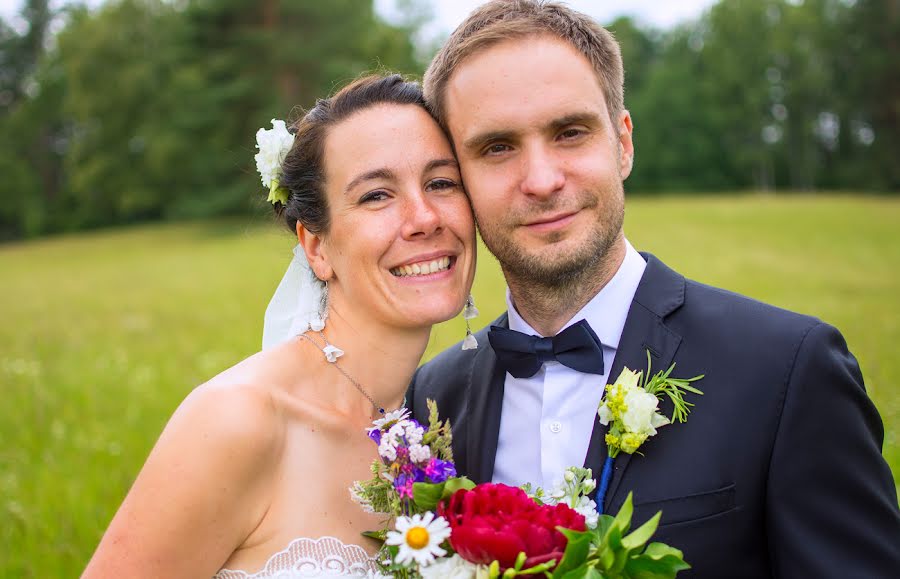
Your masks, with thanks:
<instances>
[{"instance_id":1,"label":"scalloped white lace top edge of the strapless wedding dress","mask_svg":"<svg viewBox=\"0 0 900 579\"><path fill-rule=\"evenodd\" d=\"M359 545L347 545L334 537L294 539L275 553L255 573L222 569L213 579L317 579L355 577L381 579L375 560Z\"/></svg>"}]
</instances>

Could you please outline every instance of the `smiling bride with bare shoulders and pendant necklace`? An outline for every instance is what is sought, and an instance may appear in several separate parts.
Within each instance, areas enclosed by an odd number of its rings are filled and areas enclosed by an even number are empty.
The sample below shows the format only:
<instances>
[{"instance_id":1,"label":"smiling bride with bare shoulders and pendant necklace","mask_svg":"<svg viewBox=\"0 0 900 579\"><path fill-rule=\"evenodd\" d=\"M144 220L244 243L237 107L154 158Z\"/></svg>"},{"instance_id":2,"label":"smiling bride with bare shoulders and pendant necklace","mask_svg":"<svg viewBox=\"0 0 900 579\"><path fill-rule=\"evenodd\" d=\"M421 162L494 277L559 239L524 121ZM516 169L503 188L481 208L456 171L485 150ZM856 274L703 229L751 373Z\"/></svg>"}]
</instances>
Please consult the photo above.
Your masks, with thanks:
<instances>
[{"instance_id":1,"label":"smiling bride with bare shoulders and pendant necklace","mask_svg":"<svg viewBox=\"0 0 900 579\"><path fill-rule=\"evenodd\" d=\"M348 487L369 478L366 428L402 406L431 325L463 308L474 225L417 84L360 79L294 128L273 193L289 192L275 207L299 245L266 328L286 340L184 400L83 577L374 574L377 545L360 533L382 521ZM275 319L306 267L327 306Z\"/></svg>"}]
</instances>

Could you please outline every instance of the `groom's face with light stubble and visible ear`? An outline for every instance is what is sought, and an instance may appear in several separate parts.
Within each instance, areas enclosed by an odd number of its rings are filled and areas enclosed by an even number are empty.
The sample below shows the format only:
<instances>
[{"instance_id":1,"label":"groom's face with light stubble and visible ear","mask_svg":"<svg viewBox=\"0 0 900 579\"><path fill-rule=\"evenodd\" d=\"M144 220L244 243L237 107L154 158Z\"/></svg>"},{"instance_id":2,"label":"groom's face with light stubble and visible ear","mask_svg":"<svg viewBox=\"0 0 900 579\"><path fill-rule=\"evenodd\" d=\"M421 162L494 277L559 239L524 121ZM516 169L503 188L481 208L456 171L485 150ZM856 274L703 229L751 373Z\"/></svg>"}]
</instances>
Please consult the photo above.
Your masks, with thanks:
<instances>
[{"instance_id":1,"label":"groom's face with light stubble and visible ear","mask_svg":"<svg viewBox=\"0 0 900 579\"><path fill-rule=\"evenodd\" d=\"M631 118L614 124L590 62L550 36L459 65L447 125L479 230L509 276L564 285L622 239Z\"/></svg>"}]
</instances>

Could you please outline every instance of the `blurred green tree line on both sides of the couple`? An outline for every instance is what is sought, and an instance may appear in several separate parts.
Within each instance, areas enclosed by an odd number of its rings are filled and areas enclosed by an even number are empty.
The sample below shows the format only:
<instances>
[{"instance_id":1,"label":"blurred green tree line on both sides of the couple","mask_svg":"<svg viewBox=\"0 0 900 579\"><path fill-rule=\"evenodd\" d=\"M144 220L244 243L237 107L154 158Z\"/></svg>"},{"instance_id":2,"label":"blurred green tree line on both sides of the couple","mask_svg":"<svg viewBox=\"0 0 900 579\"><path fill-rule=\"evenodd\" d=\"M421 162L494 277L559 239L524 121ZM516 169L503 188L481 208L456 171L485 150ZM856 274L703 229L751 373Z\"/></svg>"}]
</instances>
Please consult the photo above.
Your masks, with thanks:
<instances>
[{"instance_id":1,"label":"blurred green tree line on both sides of the couple","mask_svg":"<svg viewBox=\"0 0 900 579\"><path fill-rule=\"evenodd\" d=\"M420 75L427 3L24 2L0 19L0 239L261 207L254 134L366 70ZM609 23L629 192L900 189L900 2L721 0ZM293 110L293 112L292 112Z\"/></svg>"}]
</instances>

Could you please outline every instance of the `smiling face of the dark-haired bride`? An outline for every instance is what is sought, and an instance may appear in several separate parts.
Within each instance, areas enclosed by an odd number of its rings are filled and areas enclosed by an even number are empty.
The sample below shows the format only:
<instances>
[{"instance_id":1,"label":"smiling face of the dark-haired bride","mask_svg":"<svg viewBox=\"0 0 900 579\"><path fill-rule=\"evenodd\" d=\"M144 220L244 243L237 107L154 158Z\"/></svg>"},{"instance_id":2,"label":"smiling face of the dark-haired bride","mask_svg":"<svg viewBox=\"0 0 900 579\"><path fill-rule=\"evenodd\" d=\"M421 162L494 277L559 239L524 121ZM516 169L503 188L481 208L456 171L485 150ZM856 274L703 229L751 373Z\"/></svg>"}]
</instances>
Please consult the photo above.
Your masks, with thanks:
<instances>
[{"instance_id":1,"label":"smiling face of the dark-haired bride","mask_svg":"<svg viewBox=\"0 0 900 579\"><path fill-rule=\"evenodd\" d=\"M459 313L475 227L434 120L418 106L377 105L331 128L324 153L331 223L322 254L334 298L404 327Z\"/></svg>"}]
</instances>

